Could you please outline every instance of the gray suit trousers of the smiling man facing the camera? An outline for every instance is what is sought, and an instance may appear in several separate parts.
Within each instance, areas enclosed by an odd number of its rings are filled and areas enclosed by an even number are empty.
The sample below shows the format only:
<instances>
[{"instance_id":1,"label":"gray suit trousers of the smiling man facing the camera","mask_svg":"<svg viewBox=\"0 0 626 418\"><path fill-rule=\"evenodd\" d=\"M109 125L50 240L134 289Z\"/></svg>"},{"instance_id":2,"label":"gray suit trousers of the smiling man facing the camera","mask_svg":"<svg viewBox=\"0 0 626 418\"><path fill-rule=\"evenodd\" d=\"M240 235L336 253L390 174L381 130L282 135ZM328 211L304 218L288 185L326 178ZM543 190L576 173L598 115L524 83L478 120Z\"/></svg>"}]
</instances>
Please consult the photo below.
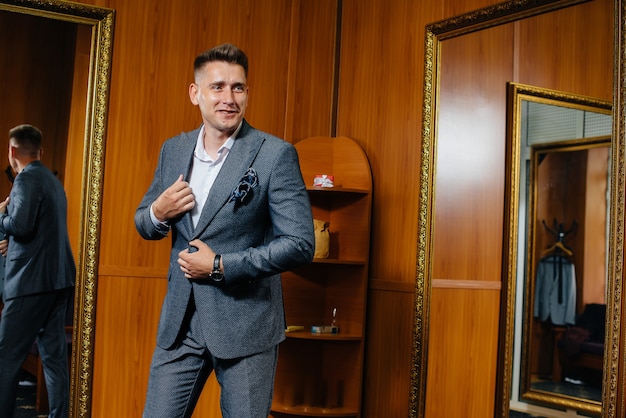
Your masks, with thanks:
<instances>
[{"instance_id":1,"label":"gray suit trousers of the smiling man facing the camera","mask_svg":"<svg viewBox=\"0 0 626 418\"><path fill-rule=\"evenodd\" d=\"M272 405L278 345L235 359L213 356L201 341L202 327L193 308L185 335L172 349L157 345L152 357L144 418L187 418L212 372L221 388L224 418L267 418Z\"/></svg>"}]
</instances>

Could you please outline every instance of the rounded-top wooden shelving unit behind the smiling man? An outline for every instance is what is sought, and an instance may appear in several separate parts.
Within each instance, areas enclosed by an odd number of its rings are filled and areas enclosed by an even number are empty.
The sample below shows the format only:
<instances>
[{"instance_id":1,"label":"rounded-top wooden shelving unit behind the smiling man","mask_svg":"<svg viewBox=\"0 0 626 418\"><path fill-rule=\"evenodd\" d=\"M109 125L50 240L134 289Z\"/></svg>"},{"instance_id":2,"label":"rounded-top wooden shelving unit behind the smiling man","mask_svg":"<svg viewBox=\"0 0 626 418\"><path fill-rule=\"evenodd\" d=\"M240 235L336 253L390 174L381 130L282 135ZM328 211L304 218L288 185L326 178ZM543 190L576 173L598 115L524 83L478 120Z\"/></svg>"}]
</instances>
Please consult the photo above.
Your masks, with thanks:
<instances>
[{"instance_id":1,"label":"rounded-top wooden shelving unit behind the smiling man","mask_svg":"<svg viewBox=\"0 0 626 418\"><path fill-rule=\"evenodd\" d=\"M279 349L271 416L359 417L363 384L372 175L363 150L345 137L313 137L296 145L316 219L330 225L328 258L283 274L287 333ZM312 187L332 174L333 188ZM330 325L338 334L313 334Z\"/></svg>"}]
</instances>

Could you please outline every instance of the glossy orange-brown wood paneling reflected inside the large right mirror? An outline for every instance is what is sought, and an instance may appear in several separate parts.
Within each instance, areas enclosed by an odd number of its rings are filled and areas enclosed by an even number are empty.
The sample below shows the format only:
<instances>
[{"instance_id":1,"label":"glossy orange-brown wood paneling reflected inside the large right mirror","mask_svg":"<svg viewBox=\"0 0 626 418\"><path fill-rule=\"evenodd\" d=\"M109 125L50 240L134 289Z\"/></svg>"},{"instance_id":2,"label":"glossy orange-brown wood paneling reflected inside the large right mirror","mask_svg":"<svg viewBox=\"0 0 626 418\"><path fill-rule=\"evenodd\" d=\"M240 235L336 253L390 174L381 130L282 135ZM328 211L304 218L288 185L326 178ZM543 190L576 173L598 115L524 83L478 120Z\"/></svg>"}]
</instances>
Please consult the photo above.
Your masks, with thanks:
<instances>
[{"instance_id":1,"label":"glossy orange-brown wood paneling reflected inside the large right mirror","mask_svg":"<svg viewBox=\"0 0 626 418\"><path fill-rule=\"evenodd\" d=\"M597 0L443 43L427 417L494 414L486 400L497 390L506 288L506 83L611 100L612 8L610 0ZM595 29L564 29L572 27ZM451 393L457 402L445 401Z\"/></svg>"}]
</instances>

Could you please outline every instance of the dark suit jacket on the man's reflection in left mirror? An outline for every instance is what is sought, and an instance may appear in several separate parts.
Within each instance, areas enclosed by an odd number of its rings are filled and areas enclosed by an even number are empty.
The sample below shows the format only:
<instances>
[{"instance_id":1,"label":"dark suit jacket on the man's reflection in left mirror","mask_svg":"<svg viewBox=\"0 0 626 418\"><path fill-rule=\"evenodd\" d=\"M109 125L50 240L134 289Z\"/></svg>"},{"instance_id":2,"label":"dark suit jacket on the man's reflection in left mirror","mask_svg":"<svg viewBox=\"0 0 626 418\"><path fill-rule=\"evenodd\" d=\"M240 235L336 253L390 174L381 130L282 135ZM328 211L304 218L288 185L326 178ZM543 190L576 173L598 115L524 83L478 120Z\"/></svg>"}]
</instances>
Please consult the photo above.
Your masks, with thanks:
<instances>
[{"instance_id":1,"label":"dark suit jacket on the man's reflection in left mirror","mask_svg":"<svg viewBox=\"0 0 626 418\"><path fill-rule=\"evenodd\" d=\"M67 235L63 185L40 161L16 177L0 232L8 235L4 299L74 286L76 265Z\"/></svg>"}]
</instances>

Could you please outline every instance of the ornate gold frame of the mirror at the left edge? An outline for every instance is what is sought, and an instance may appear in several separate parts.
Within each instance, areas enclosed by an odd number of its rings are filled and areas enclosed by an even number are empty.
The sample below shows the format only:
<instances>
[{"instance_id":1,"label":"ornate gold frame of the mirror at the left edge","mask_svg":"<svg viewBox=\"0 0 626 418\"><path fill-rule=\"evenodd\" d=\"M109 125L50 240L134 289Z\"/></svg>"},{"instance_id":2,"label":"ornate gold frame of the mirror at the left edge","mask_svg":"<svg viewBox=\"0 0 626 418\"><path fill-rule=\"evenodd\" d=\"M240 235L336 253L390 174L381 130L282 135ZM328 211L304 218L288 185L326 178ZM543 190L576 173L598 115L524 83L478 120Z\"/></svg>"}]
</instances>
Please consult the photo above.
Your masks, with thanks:
<instances>
[{"instance_id":1,"label":"ornate gold frame of the mirror at the left edge","mask_svg":"<svg viewBox=\"0 0 626 418\"><path fill-rule=\"evenodd\" d=\"M87 25L91 49L85 114L80 238L72 340L70 416L91 415L104 150L115 12L59 0L0 0L0 10Z\"/></svg>"}]
</instances>

